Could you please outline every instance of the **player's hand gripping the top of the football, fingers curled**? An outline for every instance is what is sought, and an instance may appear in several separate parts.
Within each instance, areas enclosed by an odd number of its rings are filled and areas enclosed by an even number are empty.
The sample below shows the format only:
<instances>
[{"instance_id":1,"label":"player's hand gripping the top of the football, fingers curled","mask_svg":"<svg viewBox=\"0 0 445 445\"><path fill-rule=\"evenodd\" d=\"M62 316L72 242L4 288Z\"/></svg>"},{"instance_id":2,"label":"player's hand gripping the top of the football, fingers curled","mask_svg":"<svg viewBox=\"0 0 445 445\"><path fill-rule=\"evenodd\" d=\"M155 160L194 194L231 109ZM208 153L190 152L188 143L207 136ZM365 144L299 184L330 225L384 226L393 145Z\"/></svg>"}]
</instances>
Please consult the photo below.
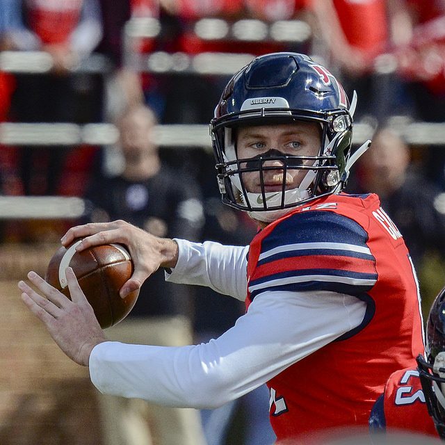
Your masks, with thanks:
<instances>
[{"instance_id":1,"label":"player's hand gripping the top of the football, fingers curled","mask_svg":"<svg viewBox=\"0 0 445 445\"><path fill-rule=\"evenodd\" d=\"M159 238L122 220L111 223L89 223L72 227L60 240L67 247L74 239L83 238L76 250L90 248L93 245L120 243L127 246L133 259L134 272L120 289L124 298L130 292L140 289L143 282L160 267L176 266L178 246L168 238Z\"/></svg>"}]
</instances>

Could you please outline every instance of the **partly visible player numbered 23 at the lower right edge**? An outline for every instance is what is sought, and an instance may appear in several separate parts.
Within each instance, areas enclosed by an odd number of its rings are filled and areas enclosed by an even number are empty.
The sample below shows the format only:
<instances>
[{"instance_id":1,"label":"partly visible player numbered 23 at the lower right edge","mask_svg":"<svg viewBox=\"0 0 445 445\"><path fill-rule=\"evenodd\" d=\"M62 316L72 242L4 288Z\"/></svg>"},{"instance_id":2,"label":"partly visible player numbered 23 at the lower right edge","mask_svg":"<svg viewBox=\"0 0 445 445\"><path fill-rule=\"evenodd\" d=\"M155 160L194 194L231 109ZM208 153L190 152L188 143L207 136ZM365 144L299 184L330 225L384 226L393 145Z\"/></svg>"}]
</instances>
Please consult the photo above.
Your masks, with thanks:
<instances>
[{"instance_id":1,"label":"partly visible player numbered 23 at the lower right edge","mask_svg":"<svg viewBox=\"0 0 445 445\"><path fill-rule=\"evenodd\" d=\"M432 303L425 355L391 374L369 417L373 432L410 430L445 439L445 288Z\"/></svg>"}]
</instances>

